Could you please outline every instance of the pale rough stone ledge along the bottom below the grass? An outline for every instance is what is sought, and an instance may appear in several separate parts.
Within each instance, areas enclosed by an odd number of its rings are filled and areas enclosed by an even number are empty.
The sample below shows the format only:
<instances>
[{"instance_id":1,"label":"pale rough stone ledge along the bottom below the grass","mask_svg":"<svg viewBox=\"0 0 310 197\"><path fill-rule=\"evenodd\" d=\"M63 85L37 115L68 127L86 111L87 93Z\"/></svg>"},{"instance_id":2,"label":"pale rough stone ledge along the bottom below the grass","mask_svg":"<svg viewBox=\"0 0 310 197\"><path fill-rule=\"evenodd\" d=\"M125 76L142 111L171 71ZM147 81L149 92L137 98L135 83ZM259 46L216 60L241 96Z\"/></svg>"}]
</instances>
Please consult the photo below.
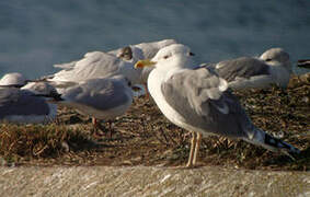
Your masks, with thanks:
<instances>
[{"instance_id":1,"label":"pale rough stone ledge along the bottom below the grass","mask_svg":"<svg viewBox=\"0 0 310 197\"><path fill-rule=\"evenodd\" d=\"M0 167L0 196L310 196L309 172L111 166Z\"/></svg>"}]
</instances>

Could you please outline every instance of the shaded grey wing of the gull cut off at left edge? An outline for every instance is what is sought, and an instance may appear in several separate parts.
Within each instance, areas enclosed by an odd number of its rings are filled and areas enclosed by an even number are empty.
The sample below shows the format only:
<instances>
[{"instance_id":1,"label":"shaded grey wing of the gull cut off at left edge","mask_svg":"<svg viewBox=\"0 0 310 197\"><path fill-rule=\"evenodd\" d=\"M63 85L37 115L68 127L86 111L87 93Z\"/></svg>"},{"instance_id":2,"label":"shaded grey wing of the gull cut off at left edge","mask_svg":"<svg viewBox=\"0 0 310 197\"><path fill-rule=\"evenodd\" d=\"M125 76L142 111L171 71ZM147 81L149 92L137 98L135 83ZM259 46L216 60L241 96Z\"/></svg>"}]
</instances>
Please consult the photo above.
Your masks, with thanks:
<instances>
[{"instance_id":1,"label":"shaded grey wing of the gull cut off at left edge","mask_svg":"<svg viewBox=\"0 0 310 197\"><path fill-rule=\"evenodd\" d=\"M48 115L44 99L28 91L0 90L0 118L10 115Z\"/></svg>"}]
</instances>

